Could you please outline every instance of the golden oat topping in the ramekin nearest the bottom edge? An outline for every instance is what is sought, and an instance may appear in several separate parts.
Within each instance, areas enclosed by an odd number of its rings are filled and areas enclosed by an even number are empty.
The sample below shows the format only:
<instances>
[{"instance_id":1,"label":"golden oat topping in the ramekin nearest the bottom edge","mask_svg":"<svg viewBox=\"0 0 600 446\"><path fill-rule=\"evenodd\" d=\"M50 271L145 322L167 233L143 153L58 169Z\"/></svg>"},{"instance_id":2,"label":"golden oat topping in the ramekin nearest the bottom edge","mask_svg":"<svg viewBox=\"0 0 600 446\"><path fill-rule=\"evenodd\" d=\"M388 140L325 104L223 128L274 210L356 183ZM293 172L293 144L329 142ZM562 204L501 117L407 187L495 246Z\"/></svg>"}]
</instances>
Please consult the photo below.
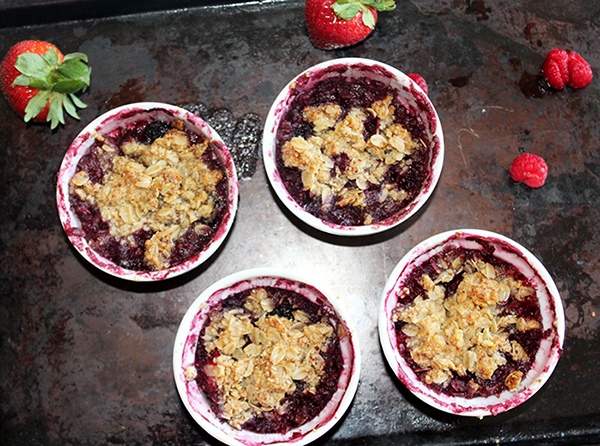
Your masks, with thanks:
<instances>
[{"instance_id":1,"label":"golden oat topping in the ramekin nearest the bottom edge","mask_svg":"<svg viewBox=\"0 0 600 446\"><path fill-rule=\"evenodd\" d=\"M284 413L285 398L298 386L314 394L324 377L321 353L332 325L325 318L311 323L302 310L292 318L269 314L274 308L265 289L254 289L243 307L211 316L204 331L204 348L214 357L205 372L215 380L223 418L235 428L263 412Z\"/></svg>"}]
</instances>

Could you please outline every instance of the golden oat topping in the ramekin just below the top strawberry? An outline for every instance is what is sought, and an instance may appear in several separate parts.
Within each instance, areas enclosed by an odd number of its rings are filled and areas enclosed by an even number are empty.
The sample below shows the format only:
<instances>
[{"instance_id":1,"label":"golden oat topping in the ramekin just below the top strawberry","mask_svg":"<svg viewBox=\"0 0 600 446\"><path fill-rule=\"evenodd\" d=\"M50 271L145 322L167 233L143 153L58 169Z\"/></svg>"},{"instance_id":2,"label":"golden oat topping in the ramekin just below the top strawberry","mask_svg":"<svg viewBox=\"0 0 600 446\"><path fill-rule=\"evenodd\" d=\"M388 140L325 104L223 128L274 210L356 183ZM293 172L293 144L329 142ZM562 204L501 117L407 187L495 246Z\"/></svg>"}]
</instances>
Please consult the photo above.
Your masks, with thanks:
<instances>
[{"instance_id":1,"label":"golden oat topping in the ramekin just below the top strawberry","mask_svg":"<svg viewBox=\"0 0 600 446\"><path fill-rule=\"evenodd\" d=\"M395 183L386 182L386 173L391 165L400 165L400 171L406 172L410 155L423 144L401 124L394 124L392 99L387 96L367 109L352 108L345 116L337 104L303 110L314 135L291 138L283 145L282 158L286 167L300 169L304 190L320 197L324 207L364 207L365 191L371 185L384 185L382 202L387 197L401 202L408 196ZM377 120L377 129L365 140L368 118ZM370 223L369 215L364 223Z\"/></svg>"}]
</instances>

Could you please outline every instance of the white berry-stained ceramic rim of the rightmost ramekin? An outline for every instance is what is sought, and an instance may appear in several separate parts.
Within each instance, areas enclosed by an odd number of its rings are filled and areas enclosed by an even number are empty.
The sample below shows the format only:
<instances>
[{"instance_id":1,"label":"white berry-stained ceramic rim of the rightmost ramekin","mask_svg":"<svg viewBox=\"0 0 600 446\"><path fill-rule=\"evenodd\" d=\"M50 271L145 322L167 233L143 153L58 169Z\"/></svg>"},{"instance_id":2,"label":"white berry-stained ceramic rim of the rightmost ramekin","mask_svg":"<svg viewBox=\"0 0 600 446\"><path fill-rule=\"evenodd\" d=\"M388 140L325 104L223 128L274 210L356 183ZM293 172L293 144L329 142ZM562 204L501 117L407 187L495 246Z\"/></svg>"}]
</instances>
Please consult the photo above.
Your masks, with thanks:
<instances>
[{"instance_id":1,"label":"white berry-stained ceramic rim of the rightmost ramekin","mask_svg":"<svg viewBox=\"0 0 600 446\"><path fill-rule=\"evenodd\" d=\"M544 329L554 327L554 337L544 339L538 351L534 364L523 379L519 389L511 393L505 391L499 396L487 398L461 398L436 393L421 382L410 366L406 363L396 346L394 324L391 321L392 311L397 304L397 290L410 272L423 261L430 258L448 243L458 243L456 238L470 237L484 239L488 242L499 241L514 250L512 255L502 252L499 258L517 261L520 267L525 267L536 277L536 291L540 296ZM518 254L515 254L518 253ZM521 257L521 261L514 258ZM415 263L413 263L415 262ZM511 262L511 263L513 263ZM483 417L497 415L512 409L531 398L550 378L562 352L565 337L564 310L560 294L552 277L542 263L527 249L515 241L490 231L477 229L462 229L437 234L409 251L391 273L383 291L379 309L379 337L384 355L396 376L402 383L422 401L444 412L456 415Z\"/></svg>"}]
</instances>

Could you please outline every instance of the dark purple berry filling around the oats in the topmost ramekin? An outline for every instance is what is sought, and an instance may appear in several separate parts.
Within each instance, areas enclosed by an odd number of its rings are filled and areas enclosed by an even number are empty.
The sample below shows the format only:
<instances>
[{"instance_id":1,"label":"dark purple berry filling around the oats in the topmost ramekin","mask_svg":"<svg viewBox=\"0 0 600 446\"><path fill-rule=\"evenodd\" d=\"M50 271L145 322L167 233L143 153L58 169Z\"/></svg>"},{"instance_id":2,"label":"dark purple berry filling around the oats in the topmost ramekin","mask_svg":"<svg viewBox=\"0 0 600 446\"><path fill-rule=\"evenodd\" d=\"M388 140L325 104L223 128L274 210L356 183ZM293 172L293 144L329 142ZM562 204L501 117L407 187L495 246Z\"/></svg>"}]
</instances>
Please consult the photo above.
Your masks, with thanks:
<instances>
[{"instance_id":1,"label":"dark purple berry filling around the oats in the topmost ramekin","mask_svg":"<svg viewBox=\"0 0 600 446\"><path fill-rule=\"evenodd\" d=\"M333 73L336 73L337 70L335 66L329 69ZM344 75L333 74L316 83L310 89L303 85L297 88L301 89L302 87L304 88L294 96L282 118L276 139L276 166L292 198L310 214L330 223L343 226L364 225L367 216L369 216L369 224L382 222L406 209L421 192L430 177L431 153L434 147L431 142L428 142L423 121L416 113L411 112L400 103L396 90L377 80L365 77L348 78ZM286 167L282 157L282 148L287 141L296 136L308 140L314 135L312 124L304 120L303 110L309 106L337 104L342 109L343 118L352 108L367 109L373 102L381 101L388 96L393 98L394 123L401 124L411 134L414 141L421 141L425 146L410 155L410 168L408 170L403 169L400 164L394 164L389 168L381 184L369 183L367 190L364 191L364 206L340 206L335 203L333 206L323 206L321 197L316 196L309 190L304 190L300 169ZM364 138L367 141L376 133L377 120L368 117L364 122L364 126ZM335 160L336 166L342 172L344 163L343 158ZM382 201L381 191L385 185L394 185L395 189L406 191L406 198L397 201L386 197ZM352 184L349 186L355 187Z\"/></svg>"}]
</instances>

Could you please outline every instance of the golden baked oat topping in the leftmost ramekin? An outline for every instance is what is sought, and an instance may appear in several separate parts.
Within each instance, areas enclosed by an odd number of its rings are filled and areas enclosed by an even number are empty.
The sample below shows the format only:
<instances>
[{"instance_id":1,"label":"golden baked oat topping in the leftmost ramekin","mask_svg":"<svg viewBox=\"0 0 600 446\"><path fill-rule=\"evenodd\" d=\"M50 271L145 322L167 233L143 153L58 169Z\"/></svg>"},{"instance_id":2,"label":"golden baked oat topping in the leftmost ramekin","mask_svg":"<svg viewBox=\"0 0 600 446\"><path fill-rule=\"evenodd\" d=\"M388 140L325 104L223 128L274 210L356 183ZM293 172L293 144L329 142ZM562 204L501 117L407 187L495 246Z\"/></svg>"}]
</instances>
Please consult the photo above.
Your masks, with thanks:
<instances>
[{"instance_id":1,"label":"golden baked oat topping in the leftmost ramekin","mask_svg":"<svg viewBox=\"0 0 600 446\"><path fill-rule=\"evenodd\" d=\"M98 135L98 158L108 172L95 182L81 170L70 183L70 193L99 208L116 240L133 243L137 231L151 232L145 260L157 270L169 267L175 242L188 228L203 230L224 176L202 159L208 140L192 144L182 122L173 127L151 144L130 140L119 148Z\"/></svg>"}]
</instances>

